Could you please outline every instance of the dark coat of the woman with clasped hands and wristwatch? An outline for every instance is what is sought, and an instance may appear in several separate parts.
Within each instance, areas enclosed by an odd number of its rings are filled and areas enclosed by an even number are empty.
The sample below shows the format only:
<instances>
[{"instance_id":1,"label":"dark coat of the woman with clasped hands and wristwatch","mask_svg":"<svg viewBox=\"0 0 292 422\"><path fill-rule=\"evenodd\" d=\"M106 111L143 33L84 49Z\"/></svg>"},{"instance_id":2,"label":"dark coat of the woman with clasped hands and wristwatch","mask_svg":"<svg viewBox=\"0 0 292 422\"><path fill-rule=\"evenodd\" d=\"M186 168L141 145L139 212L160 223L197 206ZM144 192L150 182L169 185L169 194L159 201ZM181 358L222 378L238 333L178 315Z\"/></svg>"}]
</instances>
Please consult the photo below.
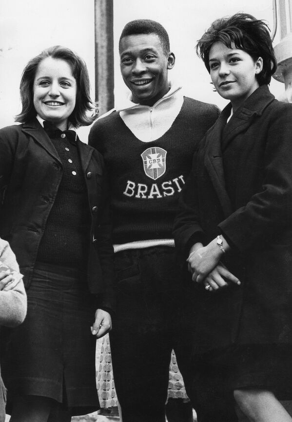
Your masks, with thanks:
<instances>
[{"instance_id":1,"label":"dark coat of the woman with clasped hands and wristwatch","mask_svg":"<svg viewBox=\"0 0 292 422\"><path fill-rule=\"evenodd\" d=\"M292 104L261 86L226 124L230 112L202 139L175 221L184 260L222 233L242 282L214 293L195 285L198 350L292 343Z\"/></svg>"}]
</instances>

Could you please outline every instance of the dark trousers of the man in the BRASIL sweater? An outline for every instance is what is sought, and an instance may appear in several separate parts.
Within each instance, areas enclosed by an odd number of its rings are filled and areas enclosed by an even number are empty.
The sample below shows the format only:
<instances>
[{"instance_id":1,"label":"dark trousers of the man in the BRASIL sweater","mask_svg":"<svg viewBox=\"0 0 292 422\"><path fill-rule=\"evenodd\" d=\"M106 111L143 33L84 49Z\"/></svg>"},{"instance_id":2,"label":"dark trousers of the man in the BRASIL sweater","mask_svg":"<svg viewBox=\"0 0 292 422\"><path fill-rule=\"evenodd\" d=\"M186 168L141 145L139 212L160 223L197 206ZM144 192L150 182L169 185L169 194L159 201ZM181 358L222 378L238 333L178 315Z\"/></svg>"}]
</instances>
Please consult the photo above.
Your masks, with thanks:
<instances>
[{"instance_id":1,"label":"dark trousers of the man in the BRASIL sweater","mask_svg":"<svg viewBox=\"0 0 292 422\"><path fill-rule=\"evenodd\" d=\"M111 350L123 422L164 422L172 349L190 395L191 300L171 247L116 253Z\"/></svg>"}]
</instances>

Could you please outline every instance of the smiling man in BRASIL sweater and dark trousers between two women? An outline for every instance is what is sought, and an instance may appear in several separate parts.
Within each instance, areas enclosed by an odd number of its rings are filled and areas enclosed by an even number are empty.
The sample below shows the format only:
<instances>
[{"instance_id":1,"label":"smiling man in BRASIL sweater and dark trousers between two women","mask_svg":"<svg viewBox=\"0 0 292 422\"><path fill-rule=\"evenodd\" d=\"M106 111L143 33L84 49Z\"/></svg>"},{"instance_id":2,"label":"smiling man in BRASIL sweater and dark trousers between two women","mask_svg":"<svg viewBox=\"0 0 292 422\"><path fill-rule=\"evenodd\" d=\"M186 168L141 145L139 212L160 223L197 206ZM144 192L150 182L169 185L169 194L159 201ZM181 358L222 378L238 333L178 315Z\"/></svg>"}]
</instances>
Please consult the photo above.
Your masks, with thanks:
<instances>
[{"instance_id":1,"label":"smiling man in BRASIL sweater and dark trousers between two women","mask_svg":"<svg viewBox=\"0 0 292 422\"><path fill-rule=\"evenodd\" d=\"M175 55L161 24L127 23L119 55L131 95L101 116L89 135L110 177L117 280L110 339L114 378L123 422L162 422L172 349L187 391L191 355L188 285L175 262L173 221L193 153L219 110L169 84Z\"/></svg>"}]
</instances>

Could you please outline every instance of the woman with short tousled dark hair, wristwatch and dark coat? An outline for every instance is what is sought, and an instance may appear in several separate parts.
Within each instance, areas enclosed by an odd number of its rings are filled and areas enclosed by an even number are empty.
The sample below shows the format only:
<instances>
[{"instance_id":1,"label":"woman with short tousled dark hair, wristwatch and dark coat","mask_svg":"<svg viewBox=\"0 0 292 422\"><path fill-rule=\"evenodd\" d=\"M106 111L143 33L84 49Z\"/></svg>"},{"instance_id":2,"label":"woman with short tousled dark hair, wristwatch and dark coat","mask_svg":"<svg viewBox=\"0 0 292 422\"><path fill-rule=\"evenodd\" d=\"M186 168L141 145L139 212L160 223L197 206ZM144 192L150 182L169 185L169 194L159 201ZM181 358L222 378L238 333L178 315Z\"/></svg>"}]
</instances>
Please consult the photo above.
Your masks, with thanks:
<instances>
[{"instance_id":1,"label":"woman with short tousled dark hair, wristwatch and dark coat","mask_svg":"<svg viewBox=\"0 0 292 422\"><path fill-rule=\"evenodd\" d=\"M279 402L292 398L292 105L269 91L262 20L217 19L197 51L230 103L194 155L175 220L195 288L193 387L210 421L292 421Z\"/></svg>"}]
</instances>

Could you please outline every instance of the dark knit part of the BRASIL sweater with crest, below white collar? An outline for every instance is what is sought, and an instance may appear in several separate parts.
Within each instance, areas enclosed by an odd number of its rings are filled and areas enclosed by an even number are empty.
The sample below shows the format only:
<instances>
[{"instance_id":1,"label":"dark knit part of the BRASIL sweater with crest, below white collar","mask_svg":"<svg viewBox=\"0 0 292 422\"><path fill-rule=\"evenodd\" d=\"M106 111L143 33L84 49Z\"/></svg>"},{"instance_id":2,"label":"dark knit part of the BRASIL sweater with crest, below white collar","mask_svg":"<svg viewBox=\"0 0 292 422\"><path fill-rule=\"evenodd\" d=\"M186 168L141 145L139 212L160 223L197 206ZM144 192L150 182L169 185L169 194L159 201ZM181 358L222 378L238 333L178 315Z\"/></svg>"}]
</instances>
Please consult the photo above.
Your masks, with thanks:
<instances>
[{"instance_id":1,"label":"dark knit part of the BRASIL sweater with crest, below white collar","mask_svg":"<svg viewBox=\"0 0 292 422\"><path fill-rule=\"evenodd\" d=\"M216 106L184 97L171 127L147 143L115 111L97 120L89 144L103 154L108 168L115 244L172 239L178 196L193 153L218 114Z\"/></svg>"}]
</instances>

